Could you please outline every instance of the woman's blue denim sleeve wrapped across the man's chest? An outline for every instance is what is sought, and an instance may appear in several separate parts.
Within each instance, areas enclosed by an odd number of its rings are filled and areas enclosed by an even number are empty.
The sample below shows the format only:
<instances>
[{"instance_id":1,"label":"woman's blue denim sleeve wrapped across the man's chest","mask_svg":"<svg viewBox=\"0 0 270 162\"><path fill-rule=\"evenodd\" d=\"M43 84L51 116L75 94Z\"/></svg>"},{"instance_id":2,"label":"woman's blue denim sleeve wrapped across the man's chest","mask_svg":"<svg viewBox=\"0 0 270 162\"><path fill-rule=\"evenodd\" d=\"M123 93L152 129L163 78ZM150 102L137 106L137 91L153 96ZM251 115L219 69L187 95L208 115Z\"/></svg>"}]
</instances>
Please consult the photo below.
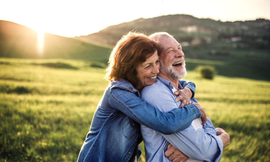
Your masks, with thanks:
<instances>
[{"instance_id":1,"label":"woman's blue denim sleeve wrapped across the man's chest","mask_svg":"<svg viewBox=\"0 0 270 162\"><path fill-rule=\"evenodd\" d=\"M187 128L200 117L200 110L193 104L161 112L147 104L136 94L120 88L112 88L110 105L136 122L163 134L172 134Z\"/></svg>"}]
</instances>

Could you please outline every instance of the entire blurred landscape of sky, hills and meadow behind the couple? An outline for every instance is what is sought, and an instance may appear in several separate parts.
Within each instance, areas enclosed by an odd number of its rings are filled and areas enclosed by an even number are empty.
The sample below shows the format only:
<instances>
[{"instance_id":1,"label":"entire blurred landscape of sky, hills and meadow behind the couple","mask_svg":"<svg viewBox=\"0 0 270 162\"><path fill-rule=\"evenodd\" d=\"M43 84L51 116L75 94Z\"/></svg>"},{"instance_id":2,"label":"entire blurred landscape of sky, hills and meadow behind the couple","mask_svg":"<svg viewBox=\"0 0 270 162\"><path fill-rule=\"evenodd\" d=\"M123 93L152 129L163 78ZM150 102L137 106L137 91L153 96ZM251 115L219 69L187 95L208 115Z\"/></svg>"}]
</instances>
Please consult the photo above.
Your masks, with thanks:
<instances>
[{"instance_id":1,"label":"entire blurred landscape of sky, hills and meadow behind the couple","mask_svg":"<svg viewBox=\"0 0 270 162\"><path fill-rule=\"evenodd\" d=\"M168 32L182 44L185 80L231 136L221 161L269 161L269 6L0 0L0 161L76 161L108 84L110 52L132 30Z\"/></svg>"}]
</instances>

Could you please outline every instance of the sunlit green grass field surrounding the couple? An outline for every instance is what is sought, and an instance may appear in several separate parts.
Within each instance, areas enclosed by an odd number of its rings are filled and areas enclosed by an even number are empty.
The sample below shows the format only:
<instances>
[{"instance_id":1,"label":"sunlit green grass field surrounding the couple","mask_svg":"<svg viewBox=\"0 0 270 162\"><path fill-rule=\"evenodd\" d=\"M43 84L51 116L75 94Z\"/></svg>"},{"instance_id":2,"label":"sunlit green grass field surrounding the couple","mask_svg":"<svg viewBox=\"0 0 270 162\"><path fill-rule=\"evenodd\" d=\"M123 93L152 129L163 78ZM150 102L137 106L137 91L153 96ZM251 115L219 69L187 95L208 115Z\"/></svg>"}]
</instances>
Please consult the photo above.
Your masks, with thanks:
<instances>
[{"instance_id":1,"label":"sunlit green grass field surrounding the couple","mask_svg":"<svg viewBox=\"0 0 270 162\"><path fill-rule=\"evenodd\" d=\"M0 59L0 161L77 160L108 84L104 69L90 65ZM214 126L230 134L221 161L270 161L269 81L206 80L195 71L185 79L196 83L195 97Z\"/></svg>"}]
</instances>

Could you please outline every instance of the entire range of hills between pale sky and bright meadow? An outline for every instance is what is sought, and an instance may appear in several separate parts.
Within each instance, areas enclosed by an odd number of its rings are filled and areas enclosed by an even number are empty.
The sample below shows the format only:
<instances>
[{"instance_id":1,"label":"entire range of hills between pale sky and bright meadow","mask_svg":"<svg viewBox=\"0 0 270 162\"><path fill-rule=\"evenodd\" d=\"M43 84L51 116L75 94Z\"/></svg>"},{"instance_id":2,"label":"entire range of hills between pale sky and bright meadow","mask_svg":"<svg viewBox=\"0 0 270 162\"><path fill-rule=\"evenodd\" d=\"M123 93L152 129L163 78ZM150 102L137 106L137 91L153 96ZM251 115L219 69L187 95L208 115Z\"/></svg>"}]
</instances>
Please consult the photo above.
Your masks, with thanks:
<instances>
[{"instance_id":1,"label":"entire range of hills between pale sky and bright meadow","mask_svg":"<svg viewBox=\"0 0 270 162\"><path fill-rule=\"evenodd\" d=\"M136 27L146 34L173 34L183 45L187 70L210 64L219 75L270 80L270 21L264 19L221 22L168 15L113 25L75 38L45 33L41 55L37 52L36 30L0 20L0 57L83 59L106 65L110 49L123 34Z\"/></svg>"}]
</instances>

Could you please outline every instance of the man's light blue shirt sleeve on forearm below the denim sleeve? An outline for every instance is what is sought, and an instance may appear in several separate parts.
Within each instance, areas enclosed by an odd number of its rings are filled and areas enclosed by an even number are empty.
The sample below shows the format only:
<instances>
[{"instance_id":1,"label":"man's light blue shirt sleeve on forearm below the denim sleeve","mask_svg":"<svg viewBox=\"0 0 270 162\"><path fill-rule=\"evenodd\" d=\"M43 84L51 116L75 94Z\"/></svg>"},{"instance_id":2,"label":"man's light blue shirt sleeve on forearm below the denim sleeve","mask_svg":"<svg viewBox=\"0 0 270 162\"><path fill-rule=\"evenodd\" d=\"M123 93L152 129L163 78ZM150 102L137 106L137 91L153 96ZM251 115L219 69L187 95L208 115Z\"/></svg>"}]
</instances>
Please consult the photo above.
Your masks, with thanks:
<instances>
[{"instance_id":1,"label":"man's light blue shirt sleeve on forearm below the denim sleeve","mask_svg":"<svg viewBox=\"0 0 270 162\"><path fill-rule=\"evenodd\" d=\"M161 135L191 159L219 161L223 153L221 138L212 133L205 133L203 128L191 129L170 135Z\"/></svg>"}]
</instances>

